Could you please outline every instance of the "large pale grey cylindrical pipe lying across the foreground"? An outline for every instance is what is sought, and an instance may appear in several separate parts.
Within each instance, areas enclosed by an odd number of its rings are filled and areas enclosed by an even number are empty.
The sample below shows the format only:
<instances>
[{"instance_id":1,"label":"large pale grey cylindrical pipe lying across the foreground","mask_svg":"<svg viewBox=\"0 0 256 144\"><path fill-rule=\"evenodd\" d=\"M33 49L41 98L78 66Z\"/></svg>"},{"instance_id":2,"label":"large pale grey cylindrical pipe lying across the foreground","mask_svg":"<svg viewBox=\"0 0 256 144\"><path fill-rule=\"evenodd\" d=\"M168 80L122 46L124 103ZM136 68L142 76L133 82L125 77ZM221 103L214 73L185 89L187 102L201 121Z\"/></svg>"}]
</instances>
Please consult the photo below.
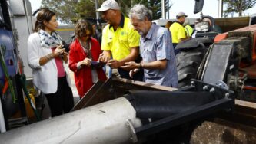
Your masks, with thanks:
<instances>
[{"instance_id":1,"label":"large pale grey cylindrical pipe lying across the foreground","mask_svg":"<svg viewBox=\"0 0 256 144\"><path fill-rule=\"evenodd\" d=\"M0 143L131 143L128 119L141 126L131 103L118 98L2 133Z\"/></svg>"}]
</instances>

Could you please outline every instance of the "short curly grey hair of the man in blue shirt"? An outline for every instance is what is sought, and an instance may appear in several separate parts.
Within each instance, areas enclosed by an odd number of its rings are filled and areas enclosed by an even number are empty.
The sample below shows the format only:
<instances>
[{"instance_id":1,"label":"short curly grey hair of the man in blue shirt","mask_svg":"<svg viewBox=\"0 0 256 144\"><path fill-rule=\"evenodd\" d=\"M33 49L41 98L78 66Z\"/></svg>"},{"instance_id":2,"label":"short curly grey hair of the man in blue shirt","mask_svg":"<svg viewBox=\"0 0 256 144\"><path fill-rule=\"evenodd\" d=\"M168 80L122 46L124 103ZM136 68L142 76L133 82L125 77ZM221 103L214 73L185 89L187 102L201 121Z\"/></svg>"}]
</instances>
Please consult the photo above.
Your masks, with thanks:
<instances>
[{"instance_id":1,"label":"short curly grey hair of the man in blue shirt","mask_svg":"<svg viewBox=\"0 0 256 144\"><path fill-rule=\"evenodd\" d=\"M146 8L145 5L137 4L131 8L129 17L136 17L141 21L148 18L149 21L152 21L152 11Z\"/></svg>"}]
</instances>

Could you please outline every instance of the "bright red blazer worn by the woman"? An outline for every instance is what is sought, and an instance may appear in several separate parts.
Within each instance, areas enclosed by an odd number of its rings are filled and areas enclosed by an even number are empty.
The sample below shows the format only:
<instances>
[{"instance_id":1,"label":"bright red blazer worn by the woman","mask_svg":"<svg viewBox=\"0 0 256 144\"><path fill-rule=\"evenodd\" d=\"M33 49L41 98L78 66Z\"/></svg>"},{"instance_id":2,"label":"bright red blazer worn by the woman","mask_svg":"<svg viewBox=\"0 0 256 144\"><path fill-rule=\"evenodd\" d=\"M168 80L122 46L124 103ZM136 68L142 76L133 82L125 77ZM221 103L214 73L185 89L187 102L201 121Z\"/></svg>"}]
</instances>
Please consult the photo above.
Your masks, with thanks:
<instances>
[{"instance_id":1,"label":"bright red blazer worn by the woman","mask_svg":"<svg viewBox=\"0 0 256 144\"><path fill-rule=\"evenodd\" d=\"M92 61L98 61L99 54L101 54L101 47L95 38L91 38L91 57ZM87 57L83 47L81 47L78 39L72 42L69 51L68 67L74 72L75 86L78 89L80 97L84 97L85 93L92 86L91 67L83 67L80 70L77 68L79 61L83 61ZM107 80L105 72L102 68L97 69L98 80Z\"/></svg>"}]
</instances>

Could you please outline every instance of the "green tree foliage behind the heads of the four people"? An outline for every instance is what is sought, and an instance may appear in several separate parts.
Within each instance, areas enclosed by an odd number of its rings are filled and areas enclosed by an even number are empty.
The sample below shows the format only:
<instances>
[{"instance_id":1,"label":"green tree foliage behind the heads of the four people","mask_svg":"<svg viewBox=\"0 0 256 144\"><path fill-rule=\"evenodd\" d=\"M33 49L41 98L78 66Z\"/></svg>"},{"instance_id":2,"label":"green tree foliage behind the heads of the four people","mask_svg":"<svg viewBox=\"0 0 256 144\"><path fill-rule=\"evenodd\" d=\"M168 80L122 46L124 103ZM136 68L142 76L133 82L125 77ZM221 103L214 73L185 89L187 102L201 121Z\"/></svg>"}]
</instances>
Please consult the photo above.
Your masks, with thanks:
<instances>
[{"instance_id":1,"label":"green tree foliage behind the heads of the four people","mask_svg":"<svg viewBox=\"0 0 256 144\"><path fill-rule=\"evenodd\" d=\"M116 1L124 15L128 15L128 11L133 5L140 3L151 9L153 19L161 18L161 0ZM98 0L99 7L102 2L104 0ZM171 7L171 5L169 6ZM95 0L42 0L42 7L51 8L58 15L58 20L65 24L75 23L79 18L96 18Z\"/></svg>"}]
</instances>

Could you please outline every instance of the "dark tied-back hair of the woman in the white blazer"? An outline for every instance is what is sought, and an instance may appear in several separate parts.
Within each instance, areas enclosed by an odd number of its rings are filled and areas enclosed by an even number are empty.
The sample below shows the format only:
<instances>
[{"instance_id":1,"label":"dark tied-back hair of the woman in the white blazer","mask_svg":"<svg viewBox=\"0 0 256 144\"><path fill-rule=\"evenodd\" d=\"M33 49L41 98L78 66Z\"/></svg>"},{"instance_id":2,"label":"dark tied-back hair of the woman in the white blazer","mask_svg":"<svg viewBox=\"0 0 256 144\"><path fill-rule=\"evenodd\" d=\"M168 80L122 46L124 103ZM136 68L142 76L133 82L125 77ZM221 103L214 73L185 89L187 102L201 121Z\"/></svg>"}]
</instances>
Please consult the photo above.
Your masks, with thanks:
<instances>
[{"instance_id":1,"label":"dark tied-back hair of the woman in the white blazer","mask_svg":"<svg viewBox=\"0 0 256 144\"><path fill-rule=\"evenodd\" d=\"M51 21L52 17L55 15L55 12L49 10L48 8L42 8L38 11L35 21L35 32L38 32L40 29L45 29L44 21Z\"/></svg>"}]
</instances>

